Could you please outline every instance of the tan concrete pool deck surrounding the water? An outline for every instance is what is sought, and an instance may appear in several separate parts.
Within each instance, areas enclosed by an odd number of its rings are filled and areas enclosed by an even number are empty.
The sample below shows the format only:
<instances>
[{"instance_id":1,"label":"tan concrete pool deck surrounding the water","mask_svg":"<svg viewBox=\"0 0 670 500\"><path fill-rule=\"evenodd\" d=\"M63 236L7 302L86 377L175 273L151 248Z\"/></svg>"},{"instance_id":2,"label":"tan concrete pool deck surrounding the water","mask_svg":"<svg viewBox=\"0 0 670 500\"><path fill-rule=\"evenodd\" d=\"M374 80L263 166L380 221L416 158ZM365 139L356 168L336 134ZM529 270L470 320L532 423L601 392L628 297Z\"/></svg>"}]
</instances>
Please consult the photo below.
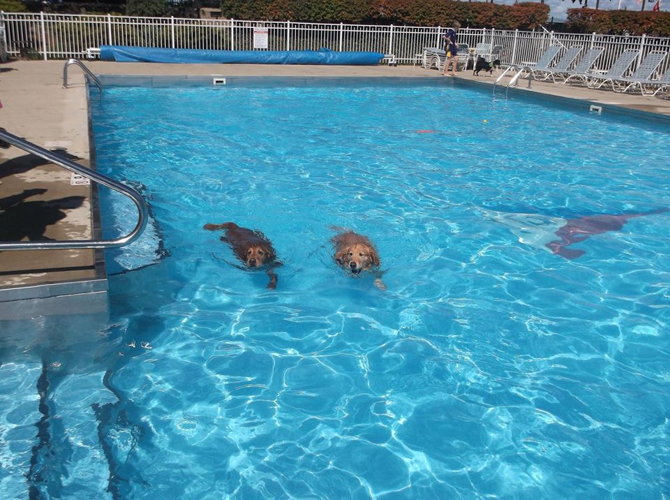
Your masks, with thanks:
<instances>
[{"instance_id":1,"label":"tan concrete pool deck surrounding the water","mask_svg":"<svg viewBox=\"0 0 670 500\"><path fill-rule=\"evenodd\" d=\"M172 75L172 76L272 76L272 77L390 77L433 78L449 80L436 70L421 66L282 66L249 64L128 64L104 61L84 61L98 75ZM64 61L10 61L0 64L0 126L9 133L29 142L59 149L70 159L84 166L91 160L89 150L89 120L84 75L80 68L70 66L68 88L62 86ZM470 71L457 73L457 79L476 80L492 86L493 76L475 77ZM509 79L500 82L500 96ZM513 92L549 94L556 98L572 98L586 103L655 113L670 120L670 101L660 96L616 94L612 91L570 87L563 84L532 82L526 89L521 80ZM448 103L445 103L445 112ZM620 109L616 108L616 109ZM670 121L669 121L670 123ZM49 221L32 224L43 237L54 240L89 240L95 230L94 210L91 208L91 186L73 185L70 172L45 164L45 161L16 147L0 149L0 228L10 226L23 237L17 226L16 214L46 213ZM36 191L30 191L36 190ZM10 198L14 196L15 198ZM59 206L62 198L76 196L76 203ZM34 203L33 203L34 202ZM25 210L30 208L32 212ZM23 210L23 212L22 212ZM20 225L20 227L23 227ZM33 234L33 233L31 233ZM27 235L26 235L27 237ZM25 240L26 238L24 238ZM107 283L101 252L93 250L3 251L0 252L0 319L15 316L16 300L51 299L57 314L64 302L57 297L96 293L104 300L82 307L104 307ZM13 304L14 303L14 304ZM30 314L44 314L42 306L25 308ZM67 308L66 308L67 309Z\"/></svg>"}]
</instances>

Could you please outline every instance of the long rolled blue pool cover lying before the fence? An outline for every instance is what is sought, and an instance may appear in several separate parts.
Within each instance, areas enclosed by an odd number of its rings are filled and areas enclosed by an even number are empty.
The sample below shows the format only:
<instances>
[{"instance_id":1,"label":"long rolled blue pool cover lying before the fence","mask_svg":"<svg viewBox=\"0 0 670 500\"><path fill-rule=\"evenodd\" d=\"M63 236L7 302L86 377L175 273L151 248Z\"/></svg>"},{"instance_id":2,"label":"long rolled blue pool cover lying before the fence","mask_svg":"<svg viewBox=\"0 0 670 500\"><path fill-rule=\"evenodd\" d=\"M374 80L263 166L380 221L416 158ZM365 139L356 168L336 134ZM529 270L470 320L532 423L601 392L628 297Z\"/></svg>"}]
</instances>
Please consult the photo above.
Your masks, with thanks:
<instances>
[{"instance_id":1,"label":"long rolled blue pool cover lying before the fence","mask_svg":"<svg viewBox=\"0 0 670 500\"><path fill-rule=\"evenodd\" d=\"M195 50L101 45L100 58L117 62L210 63L210 64L379 64L381 52L320 50Z\"/></svg>"}]
</instances>

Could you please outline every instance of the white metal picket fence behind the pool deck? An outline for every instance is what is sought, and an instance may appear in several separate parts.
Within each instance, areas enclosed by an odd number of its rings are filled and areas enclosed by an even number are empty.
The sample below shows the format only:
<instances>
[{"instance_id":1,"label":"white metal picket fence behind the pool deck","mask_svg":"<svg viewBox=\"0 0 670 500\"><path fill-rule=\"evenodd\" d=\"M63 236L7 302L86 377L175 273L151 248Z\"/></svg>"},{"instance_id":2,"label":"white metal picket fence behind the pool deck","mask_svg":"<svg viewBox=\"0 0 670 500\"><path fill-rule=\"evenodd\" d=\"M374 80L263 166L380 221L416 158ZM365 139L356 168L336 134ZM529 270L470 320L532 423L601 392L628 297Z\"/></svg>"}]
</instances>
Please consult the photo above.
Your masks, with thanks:
<instances>
[{"instance_id":1,"label":"white metal picket fence behind the pool deck","mask_svg":"<svg viewBox=\"0 0 670 500\"><path fill-rule=\"evenodd\" d=\"M399 64L413 64L423 47L442 45L444 32L442 27L3 12L0 24L5 27L8 54L40 59L84 57L88 48L100 45L253 50L253 29L263 27L268 30L268 50L366 50L394 54ZM537 61L549 45L563 50L574 45L604 47L599 69L609 68L626 49L639 50L640 60L650 50L670 50L670 38L497 29L461 29L459 42L470 47L482 42L501 45L503 64Z\"/></svg>"}]
</instances>

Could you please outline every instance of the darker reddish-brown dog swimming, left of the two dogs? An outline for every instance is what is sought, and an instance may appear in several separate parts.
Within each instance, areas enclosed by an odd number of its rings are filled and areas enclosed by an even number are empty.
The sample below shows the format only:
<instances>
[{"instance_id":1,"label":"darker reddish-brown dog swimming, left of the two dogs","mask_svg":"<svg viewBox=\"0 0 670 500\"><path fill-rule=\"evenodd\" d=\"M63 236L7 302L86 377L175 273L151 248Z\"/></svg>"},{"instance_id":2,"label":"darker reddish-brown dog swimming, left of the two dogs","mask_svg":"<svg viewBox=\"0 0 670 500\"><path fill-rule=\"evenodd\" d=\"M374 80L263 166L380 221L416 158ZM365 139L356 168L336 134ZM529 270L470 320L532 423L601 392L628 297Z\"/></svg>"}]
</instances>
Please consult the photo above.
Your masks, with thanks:
<instances>
[{"instance_id":1,"label":"darker reddish-brown dog swimming, left of the two dogs","mask_svg":"<svg viewBox=\"0 0 670 500\"><path fill-rule=\"evenodd\" d=\"M234 222L205 224L202 228L210 231L225 230L225 235L221 237L221 241L230 245L235 256L246 267L265 268L265 272L270 277L267 288L273 290L276 288L277 275L274 274L274 268L279 267L281 262L276 260L277 253L263 233L259 230L241 228Z\"/></svg>"}]
</instances>

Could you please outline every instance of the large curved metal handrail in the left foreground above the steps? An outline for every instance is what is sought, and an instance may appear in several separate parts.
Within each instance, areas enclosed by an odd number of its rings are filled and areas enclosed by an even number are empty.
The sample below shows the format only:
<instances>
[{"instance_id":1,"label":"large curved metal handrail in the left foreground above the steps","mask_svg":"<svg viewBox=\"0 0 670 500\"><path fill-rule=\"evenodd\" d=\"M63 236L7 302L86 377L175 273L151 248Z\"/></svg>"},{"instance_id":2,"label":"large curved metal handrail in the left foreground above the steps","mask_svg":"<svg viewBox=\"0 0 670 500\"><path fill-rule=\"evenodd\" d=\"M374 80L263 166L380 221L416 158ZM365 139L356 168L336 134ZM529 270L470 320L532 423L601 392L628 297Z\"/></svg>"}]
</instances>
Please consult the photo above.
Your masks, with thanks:
<instances>
[{"instance_id":1,"label":"large curved metal handrail in the left foreground above the steps","mask_svg":"<svg viewBox=\"0 0 670 500\"><path fill-rule=\"evenodd\" d=\"M90 168L82 167L77 165L73 161L70 161L58 154L43 149L37 145L34 145L32 142L23 140L22 138L17 137L16 135L10 134L3 129L0 129L0 139L9 142L11 145L14 145L24 151L27 151L36 156L55 163L63 168L66 168L72 172L77 172L77 174L83 175L88 179L94 180L103 186L107 186L114 191L119 191L119 193L128 196L131 198L137 207L137 212L139 214L137 218L137 225L135 228L128 233L128 235L117 238L116 240L73 240L70 242L64 241L45 241L45 242L0 242L0 250L47 250L47 249L107 249L107 248L118 248L124 247L124 245L130 244L137 240L138 237L142 234L142 231L147 226L147 217L149 214L149 208L147 207L147 202L144 201L142 195L135 191L125 184L110 179L106 175L99 174L95 170Z\"/></svg>"}]
</instances>

